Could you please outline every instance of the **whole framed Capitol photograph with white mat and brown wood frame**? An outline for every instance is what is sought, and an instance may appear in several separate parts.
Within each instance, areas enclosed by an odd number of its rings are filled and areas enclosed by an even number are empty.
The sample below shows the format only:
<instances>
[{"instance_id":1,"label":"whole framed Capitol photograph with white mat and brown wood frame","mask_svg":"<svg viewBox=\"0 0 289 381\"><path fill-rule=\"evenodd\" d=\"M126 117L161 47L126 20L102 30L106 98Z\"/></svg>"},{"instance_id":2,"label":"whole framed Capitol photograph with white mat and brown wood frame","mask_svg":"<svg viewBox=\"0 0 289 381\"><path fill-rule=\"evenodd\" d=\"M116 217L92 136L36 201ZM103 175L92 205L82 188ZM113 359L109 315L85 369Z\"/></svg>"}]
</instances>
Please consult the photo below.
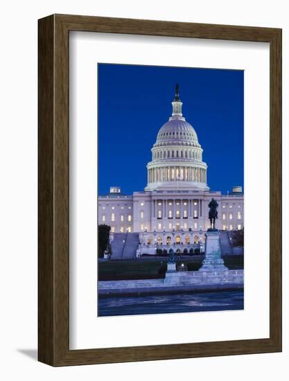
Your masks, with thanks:
<instances>
[{"instance_id":1,"label":"whole framed Capitol photograph with white mat and brown wood frame","mask_svg":"<svg viewBox=\"0 0 289 381\"><path fill-rule=\"evenodd\" d=\"M39 20L39 360L281 351L281 30Z\"/></svg>"}]
</instances>

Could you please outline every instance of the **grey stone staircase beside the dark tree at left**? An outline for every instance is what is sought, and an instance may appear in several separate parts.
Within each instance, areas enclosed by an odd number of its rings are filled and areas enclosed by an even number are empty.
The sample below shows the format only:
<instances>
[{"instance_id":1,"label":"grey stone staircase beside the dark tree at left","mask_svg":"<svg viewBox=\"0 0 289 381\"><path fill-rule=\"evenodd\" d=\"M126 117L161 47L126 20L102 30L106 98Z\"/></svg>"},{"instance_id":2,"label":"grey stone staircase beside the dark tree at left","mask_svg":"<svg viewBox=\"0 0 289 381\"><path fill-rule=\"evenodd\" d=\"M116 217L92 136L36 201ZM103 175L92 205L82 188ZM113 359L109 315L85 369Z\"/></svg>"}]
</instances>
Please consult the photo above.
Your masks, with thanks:
<instances>
[{"instance_id":1,"label":"grey stone staircase beside the dark tree at left","mask_svg":"<svg viewBox=\"0 0 289 381\"><path fill-rule=\"evenodd\" d=\"M112 259L135 258L139 248L139 233L114 233Z\"/></svg>"}]
</instances>

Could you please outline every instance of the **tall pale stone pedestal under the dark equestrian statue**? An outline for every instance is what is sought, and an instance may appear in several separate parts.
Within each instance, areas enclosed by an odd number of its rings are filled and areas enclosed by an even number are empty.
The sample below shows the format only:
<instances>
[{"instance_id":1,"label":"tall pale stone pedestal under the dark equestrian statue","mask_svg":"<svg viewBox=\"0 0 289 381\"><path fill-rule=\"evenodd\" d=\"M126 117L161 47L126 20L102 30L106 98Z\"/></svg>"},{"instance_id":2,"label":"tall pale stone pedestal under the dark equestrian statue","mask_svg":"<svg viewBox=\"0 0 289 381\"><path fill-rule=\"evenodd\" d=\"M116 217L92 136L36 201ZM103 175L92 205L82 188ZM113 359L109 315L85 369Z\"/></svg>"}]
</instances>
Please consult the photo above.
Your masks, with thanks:
<instances>
[{"instance_id":1,"label":"tall pale stone pedestal under the dark equestrian statue","mask_svg":"<svg viewBox=\"0 0 289 381\"><path fill-rule=\"evenodd\" d=\"M221 257L220 234L220 231L207 231L205 235L205 257L199 272L220 273L229 271Z\"/></svg>"}]
</instances>

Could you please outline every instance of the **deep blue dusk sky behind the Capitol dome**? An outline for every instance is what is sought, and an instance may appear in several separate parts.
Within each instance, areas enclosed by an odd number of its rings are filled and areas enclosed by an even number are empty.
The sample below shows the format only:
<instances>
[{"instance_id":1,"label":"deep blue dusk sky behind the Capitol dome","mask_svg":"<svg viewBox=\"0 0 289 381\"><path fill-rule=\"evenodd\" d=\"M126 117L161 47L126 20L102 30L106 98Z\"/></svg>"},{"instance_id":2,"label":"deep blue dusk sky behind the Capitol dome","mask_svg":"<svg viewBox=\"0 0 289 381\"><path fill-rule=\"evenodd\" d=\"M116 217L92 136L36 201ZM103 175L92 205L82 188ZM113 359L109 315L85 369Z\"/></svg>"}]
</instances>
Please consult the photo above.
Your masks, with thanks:
<instances>
[{"instance_id":1,"label":"deep blue dusk sky behind the Capitol dome","mask_svg":"<svg viewBox=\"0 0 289 381\"><path fill-rule=\"evenodd\" d=\"M171 115L179 83L182 112L202 145L211 190L244 181L243 71L98 64L98 194L146 186L146 164Z\"/></svg>"}]
</instances>

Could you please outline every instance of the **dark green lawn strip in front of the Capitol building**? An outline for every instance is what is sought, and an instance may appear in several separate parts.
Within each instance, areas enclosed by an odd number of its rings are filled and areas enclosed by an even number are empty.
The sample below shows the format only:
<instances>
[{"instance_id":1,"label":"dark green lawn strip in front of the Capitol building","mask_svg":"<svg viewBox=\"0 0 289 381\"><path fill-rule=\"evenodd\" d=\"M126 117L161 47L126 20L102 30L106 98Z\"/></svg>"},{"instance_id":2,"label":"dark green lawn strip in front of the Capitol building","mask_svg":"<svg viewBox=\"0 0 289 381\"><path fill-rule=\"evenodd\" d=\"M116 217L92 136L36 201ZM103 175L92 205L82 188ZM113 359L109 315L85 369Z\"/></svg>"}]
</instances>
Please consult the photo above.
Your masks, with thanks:
<instances>
[{"instance_id":1,"label":"dark green lawn strip in front of the Capitol building","mask_svg":"<svg viewBox=\"0 0 289 381\"><path fill-rule=\"evenodd\" d=\"M225 265L229 269L243 269L243 256L225 256ZM204 256L193 256L177 260L177 266L184 263L189 271L197 271ZM124 279L164 278L166 258L141 258L128 260L107 260L98 263L98 281L116 281Z\"/></svg>"}]
</instances>

